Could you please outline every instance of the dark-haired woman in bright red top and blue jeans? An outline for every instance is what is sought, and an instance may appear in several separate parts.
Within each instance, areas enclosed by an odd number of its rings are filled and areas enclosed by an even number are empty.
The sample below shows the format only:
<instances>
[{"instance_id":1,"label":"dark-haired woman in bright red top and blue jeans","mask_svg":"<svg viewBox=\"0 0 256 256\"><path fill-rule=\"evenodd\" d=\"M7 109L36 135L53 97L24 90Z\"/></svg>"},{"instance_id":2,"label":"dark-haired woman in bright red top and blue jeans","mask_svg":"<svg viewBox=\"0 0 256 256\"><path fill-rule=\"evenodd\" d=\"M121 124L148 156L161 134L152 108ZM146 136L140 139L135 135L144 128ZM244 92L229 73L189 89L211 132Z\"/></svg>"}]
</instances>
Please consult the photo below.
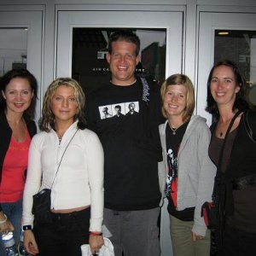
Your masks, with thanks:
<instances>
[{"instance_id":1,"label":"dark-haired woman in bright red top and blue jeans","mask_svg":"<svg viewBox=\"0 0 256 256\"><path fill-rule=\"evenodd\" d=\"M0 233L14 231L17 246L38 83L26 69L13 69L0 79L0 90Z\"/></svg>"}]
</instances>

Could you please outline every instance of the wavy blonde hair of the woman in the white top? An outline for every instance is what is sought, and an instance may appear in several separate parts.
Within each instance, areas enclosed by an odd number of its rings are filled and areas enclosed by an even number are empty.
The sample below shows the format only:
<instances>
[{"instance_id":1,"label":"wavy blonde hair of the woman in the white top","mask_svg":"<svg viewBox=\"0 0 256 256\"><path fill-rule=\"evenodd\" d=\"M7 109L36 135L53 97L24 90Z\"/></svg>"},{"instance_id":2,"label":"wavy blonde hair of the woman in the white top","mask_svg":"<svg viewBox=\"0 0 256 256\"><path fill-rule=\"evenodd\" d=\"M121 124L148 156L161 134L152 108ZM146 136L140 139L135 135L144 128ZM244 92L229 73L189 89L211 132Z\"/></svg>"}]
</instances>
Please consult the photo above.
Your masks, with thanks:
<instances>
[{"instance_id":1,"label":"wavy blonde hair of the woman in the white top","mask_svg":"<svg viewBox=\"0 0 256 256\"><path fill-rule=\"evenodd\" d=\"M78 103L78 113L74 116L74 120L79 119L80 126L79 128L85 128L85 119L84 119L84 105L85 105L85 96L84 91L80 84L75 79L70 78L59 78L55 79L49 87L47 88L44 94L42 118L39 119L39 128L41 131L50 131L50 129L55 129L55 115L51 110L52 97L55 94L55 90L61 85L70 86L74 89L74 96Z\"/></svg>"}]
</instances>

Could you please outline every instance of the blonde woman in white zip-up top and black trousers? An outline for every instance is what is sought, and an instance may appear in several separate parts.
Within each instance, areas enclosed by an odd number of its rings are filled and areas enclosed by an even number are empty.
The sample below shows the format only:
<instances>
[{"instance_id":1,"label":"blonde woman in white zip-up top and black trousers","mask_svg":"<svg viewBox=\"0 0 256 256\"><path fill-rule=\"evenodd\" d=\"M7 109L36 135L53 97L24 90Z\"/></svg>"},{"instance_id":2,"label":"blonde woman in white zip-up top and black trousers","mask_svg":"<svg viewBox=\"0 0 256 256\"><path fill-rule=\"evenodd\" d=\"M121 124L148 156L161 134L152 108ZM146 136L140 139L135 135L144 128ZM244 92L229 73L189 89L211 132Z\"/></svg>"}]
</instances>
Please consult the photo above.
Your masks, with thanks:
<instances>
[{"instance_id":1,"label":"blonde woman in white zip-up top and black trousers","mask_svg":"<svg viewBox=\"0 0 256 256\"><path fill-rule=\"evenodd\" d=\"M74 79L55 79L44 96L40 133L32 139L22 225L32 255L81 255L103 244L103 150L84 121L84 92ZM32 215L32 195L51 189L49 224Z\"/></svg>"}]
</instances>

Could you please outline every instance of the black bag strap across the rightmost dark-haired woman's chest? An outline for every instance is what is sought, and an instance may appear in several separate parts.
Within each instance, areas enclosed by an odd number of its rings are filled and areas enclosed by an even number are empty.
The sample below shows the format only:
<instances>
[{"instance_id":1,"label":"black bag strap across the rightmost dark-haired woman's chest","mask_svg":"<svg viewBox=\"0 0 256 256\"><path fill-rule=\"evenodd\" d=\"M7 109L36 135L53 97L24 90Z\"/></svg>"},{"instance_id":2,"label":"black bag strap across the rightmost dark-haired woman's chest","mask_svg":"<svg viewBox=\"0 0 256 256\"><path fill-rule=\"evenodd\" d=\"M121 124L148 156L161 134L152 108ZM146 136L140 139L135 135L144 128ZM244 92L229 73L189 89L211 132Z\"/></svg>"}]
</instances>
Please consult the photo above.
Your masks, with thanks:
<instances>
[{"instance_id":1,"label":"black bag strap across the rightmost dark-haired woman's chest","mask_svg":"<svg viewBox=\"0 0 256 256\"><path fill-rule=\"evenodd\" d=\"M226 134L225 134L225 137L224 137L224 142L222 144L222 148L219 152L219 157L218 157L218 166L217 166L217 172L216 172L216 176L215 176L215 183L214 183L214 186L213 186L213 191L212 191L212 201L215 201L216 199L216 195L217 195L217 187L218 187L218 177L220 177L220 174L221 174L221 165L222 165L222 160L223 160L223 155L224 155L224 146L225 146L225 143L227 142L227 139L228 139L228 136L229 136L229 133L230 133L230 130L237 118L237 116L241 113L241 110L237 111L236 114L233 116L233 118L231 119L230 121L230 125L228 127L228 130L226 131ZM216 126L214 127L214 131L215 131L215 128ZM212 133L214 132L212 131Z\"/></svg>"}]
</instances>

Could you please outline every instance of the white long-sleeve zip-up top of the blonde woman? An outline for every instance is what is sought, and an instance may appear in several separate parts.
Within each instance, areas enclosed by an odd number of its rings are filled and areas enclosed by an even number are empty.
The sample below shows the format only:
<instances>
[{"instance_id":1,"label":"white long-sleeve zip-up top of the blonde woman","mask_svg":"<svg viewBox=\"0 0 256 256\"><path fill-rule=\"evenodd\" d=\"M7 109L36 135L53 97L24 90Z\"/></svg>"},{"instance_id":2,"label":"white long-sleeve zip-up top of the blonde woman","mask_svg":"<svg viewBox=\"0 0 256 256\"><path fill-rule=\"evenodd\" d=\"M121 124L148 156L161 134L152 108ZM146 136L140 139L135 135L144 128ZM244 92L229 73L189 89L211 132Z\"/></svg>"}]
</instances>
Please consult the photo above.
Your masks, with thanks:
<instances>
[{"instance_id":1,"label":"white long-sleeve zip-up top of the blonde woman","mask_svg":"<svg viewBox=\"0 0 256 256\"><path fill-rule=\"evenodd\" d=\"M76 131L77 122L67 129L61 143L54 130L39 132L32 138L23 196L23 225L33 223L32 195L51 188L51 209L90 206L90 231L102 231L102 144L93 131L78 130L73 137Z\"/></svg>"}]
</instances>

